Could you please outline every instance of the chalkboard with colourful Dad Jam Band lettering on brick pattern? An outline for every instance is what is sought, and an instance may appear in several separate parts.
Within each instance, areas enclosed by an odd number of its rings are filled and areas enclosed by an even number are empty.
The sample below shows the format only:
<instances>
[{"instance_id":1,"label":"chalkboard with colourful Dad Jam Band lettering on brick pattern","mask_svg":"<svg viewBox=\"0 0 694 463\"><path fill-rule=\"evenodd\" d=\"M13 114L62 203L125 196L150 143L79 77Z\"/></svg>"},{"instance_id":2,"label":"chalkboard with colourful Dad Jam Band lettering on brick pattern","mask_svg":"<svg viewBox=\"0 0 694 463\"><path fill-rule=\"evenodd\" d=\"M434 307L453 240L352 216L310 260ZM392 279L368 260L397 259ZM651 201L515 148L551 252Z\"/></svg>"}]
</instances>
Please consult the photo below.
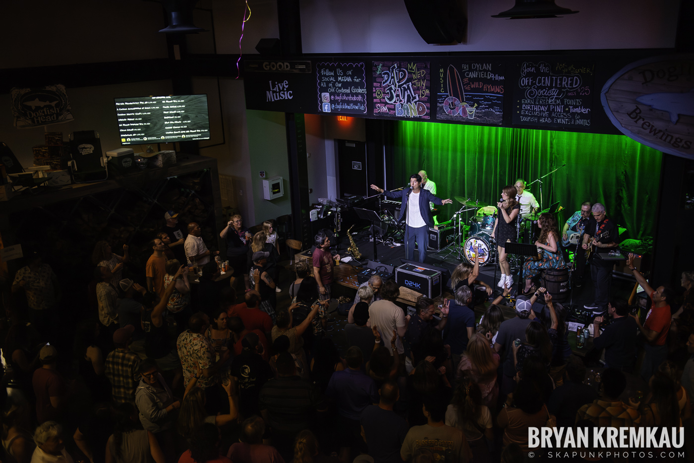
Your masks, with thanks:
<instances>
[{"instance_id":1,"label":"chalkboard with colourful Dad Jam Band lettering on brick pattern","mask_svg":"<svg viewBox=\"0 0 694 463\"><path fill-rule=\"evenodd\" d=\"M374 61L373 114L430 119L429 62Z\"/></svg>"}]
</instances>

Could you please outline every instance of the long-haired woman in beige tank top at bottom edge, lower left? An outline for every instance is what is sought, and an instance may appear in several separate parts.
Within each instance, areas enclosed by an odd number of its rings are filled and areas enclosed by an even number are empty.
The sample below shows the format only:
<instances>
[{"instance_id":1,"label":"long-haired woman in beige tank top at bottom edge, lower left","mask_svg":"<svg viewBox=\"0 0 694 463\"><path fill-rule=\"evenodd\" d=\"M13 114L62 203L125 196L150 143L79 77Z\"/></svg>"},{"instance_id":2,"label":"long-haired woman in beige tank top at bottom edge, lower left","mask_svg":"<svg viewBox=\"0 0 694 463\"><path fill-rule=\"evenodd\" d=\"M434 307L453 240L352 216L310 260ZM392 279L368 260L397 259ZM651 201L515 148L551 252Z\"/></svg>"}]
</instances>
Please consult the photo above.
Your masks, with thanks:
<instances>
[{"instance_id":1,"label":"long-haired woman in beige tank top at bottom edge, lower left","mask_svg":"<svg viewBox=\"0 0 694 463\"><path fill-rule=\"evenodd\" d=\"M114 407L113 434L106 444L106 463L164 463L164 452L153 432L139 429L137 408L132 403Z\"/></svg>"}]
</instances>

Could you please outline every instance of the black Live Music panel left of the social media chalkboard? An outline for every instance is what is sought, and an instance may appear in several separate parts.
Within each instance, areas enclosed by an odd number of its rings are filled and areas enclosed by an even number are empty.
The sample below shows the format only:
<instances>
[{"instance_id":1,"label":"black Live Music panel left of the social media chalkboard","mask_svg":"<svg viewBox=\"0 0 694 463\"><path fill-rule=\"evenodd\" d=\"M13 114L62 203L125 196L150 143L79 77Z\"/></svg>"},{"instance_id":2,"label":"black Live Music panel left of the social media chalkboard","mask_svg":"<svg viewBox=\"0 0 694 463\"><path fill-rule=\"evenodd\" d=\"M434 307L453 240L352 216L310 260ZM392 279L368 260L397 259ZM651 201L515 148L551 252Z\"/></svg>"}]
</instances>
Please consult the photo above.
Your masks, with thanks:
<instances>
[{"instance_id":1,"label":"black Live Music panel left of the social media chalkboard","mask_svg":"<svg viewBox=\"0 0 694 463\"><path fill-rule=\"evenodd\" d=\"M282 112L313 112L309 108L310 61L244 62L246 108Z\"/></svg>"}]
</instances>

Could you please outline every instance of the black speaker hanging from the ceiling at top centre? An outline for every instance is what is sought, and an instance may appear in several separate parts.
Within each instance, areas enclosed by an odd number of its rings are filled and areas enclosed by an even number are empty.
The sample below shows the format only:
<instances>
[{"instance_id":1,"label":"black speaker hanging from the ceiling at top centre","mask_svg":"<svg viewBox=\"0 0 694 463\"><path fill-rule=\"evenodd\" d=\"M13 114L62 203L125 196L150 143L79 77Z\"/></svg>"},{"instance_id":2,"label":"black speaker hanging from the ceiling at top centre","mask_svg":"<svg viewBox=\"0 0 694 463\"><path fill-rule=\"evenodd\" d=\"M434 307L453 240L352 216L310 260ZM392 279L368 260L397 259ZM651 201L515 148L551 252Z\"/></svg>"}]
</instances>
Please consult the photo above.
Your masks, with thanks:
<instances>
[{"instance_id":1,"label":"black speaker hanging from the ceiling at top centre","mask_svg":"<svg viewBox=\"0 0 694 463\"><path fill-rule=\"evenodd\" d=\"M463 0L405 0L407 13L428 44L463 42L468 18Z\"/></svg>"}]
</instances>

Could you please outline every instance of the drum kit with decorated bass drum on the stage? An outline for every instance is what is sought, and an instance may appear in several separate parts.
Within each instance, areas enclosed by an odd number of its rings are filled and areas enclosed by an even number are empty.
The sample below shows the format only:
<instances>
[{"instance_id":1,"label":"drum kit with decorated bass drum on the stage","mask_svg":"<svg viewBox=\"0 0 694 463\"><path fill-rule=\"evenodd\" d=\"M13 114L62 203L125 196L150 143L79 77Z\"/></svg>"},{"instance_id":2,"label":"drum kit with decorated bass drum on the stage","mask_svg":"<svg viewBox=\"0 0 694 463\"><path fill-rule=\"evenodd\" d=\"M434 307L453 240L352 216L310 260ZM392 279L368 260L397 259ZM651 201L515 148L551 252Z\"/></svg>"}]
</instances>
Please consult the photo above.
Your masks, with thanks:
<instances>
[{"instance_id":1,"label":"drum kit with decorated bass drum on the stage","mask_svg":"<svg viewBox=\"0 0 694 463\"><path fill-rule=\"evenodd\" d=\"M451 223L456 224L457 233L453 242L448 246L448 255L457 253L458 260L465 259L474 264L473 248L477 247L476 258L480 265L496 264L496 242L492 235L496 221L496 205L462 196L454 196L454 198L463 207L453 214L450 220ZM475 211L475 215L471 219L465 219L464 214L471 211ZM518 218L516 221L517 242L523 242L522 237L525 235L525 230L532 231L534 222L537 221L539 215L540 213L537 212L525 214L525 216ZM521 262L515 262L518 259L514 255L509 255L508 260L511 267L521 264Z\"/></svg>"}]
</instances>

